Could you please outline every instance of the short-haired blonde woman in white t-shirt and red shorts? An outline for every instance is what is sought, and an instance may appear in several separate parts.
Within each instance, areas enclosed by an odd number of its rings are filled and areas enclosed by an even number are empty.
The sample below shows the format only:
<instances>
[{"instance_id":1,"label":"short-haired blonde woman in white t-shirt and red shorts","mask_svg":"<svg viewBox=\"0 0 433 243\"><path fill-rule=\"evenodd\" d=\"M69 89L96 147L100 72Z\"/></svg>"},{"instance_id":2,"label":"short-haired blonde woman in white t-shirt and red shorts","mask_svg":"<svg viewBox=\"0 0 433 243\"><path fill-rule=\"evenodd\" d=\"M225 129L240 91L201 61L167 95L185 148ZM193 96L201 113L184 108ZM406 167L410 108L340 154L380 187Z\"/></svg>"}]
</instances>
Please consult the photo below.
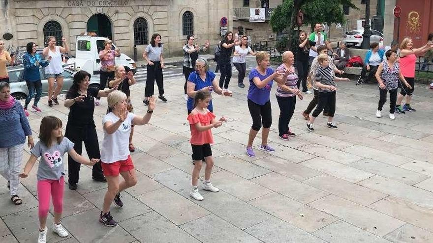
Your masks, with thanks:
<instances>
[{"instance_id":1,"label":"short-haired blonde woman in white t-shirt and red shorts","mask_svg":"<svg viewBox=\"0 0 433 243\"><path fill-rule=\"evenodd\" d=\"M126 94L115 90L108 95L108 106L112 111L102 120L104 139L102 141L101 165L108 183L104 204L99 221L106 226L116 226L116 221L110 215L110 205L114 200L116 205L124 204L120 199L120 192L137 184L134 164L129 153L129 134L132 125L145 125L152 117L155 108L155 97L149 97L149 108L146 115L138 116L129 113L127 109ZM119 174L124 181L119 183Z\"/></svg>"}]
</instances>

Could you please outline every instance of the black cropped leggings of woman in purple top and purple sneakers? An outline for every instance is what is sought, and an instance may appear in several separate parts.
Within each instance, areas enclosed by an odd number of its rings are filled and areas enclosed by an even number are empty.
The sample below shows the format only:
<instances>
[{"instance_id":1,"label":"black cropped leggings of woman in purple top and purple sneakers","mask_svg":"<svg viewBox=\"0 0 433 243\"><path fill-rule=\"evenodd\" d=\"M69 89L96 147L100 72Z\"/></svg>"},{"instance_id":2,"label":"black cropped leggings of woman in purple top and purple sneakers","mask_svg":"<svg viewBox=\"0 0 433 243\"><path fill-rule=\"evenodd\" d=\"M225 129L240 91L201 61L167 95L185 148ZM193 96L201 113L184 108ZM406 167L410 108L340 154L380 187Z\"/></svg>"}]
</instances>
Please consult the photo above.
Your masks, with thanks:
<instances>
[{"instance_id":1,"label":"black cropped leggings of woman in purple top and purple sneakers","mask_svg":"<svg viewBox=\"0 0 433 243\"><path fill-rule=\"evenodd\" d=\"M252 118L252 130L259 131L260 128L270 128L272 125L272 110L271 101L269 100L264 105L259 105L248 99L248 109Z\"/></svg>"}]
</instances>

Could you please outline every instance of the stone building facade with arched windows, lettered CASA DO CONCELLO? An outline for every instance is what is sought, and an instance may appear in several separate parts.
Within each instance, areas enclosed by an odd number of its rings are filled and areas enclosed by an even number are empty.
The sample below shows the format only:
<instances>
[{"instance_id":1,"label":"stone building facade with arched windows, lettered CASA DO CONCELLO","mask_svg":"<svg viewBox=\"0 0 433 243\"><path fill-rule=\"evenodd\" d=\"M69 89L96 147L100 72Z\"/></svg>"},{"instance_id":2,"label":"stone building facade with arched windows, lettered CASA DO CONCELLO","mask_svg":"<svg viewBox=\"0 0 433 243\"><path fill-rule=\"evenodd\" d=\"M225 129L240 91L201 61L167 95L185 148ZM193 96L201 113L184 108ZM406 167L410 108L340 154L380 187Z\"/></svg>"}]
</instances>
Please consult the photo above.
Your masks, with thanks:
<instances>
[{"instance_id":1,"label":"stone building facade with arched windows, lettered CASA DO CONCELLO","mask_svg":"<svg viewBox=\"0 0 433 243\"><path fill-rule=\"evenodd\" d=\"M204 45L220 40L220 19L231 28L232 0L2 0L0 38L6 46L30 41L44 46L47 35L64 36L74 54L76 36L96 32L111 38L123 53L137 59L152 34L159 33L166 57L182 54L186 35Z\"/></svg>"}]
</instances>

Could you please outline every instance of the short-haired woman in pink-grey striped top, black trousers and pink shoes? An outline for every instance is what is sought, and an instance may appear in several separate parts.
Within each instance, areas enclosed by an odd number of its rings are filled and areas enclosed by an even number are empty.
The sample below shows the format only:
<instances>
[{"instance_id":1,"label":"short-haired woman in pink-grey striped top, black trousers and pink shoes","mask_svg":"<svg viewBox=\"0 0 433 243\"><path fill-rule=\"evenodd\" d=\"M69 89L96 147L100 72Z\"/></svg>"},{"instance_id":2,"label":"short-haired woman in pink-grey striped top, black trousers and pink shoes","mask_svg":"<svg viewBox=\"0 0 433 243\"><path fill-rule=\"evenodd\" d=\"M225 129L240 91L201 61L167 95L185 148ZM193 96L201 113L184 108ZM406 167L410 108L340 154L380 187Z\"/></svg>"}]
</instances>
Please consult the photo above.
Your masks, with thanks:
<instances>
[{"instance_id":1,"label":"short-haired woman in pink-grey striped top, black trousers and pink shoes","mask_svg":"<svg viewBox=\"0 0 433 243\"><path fill-rule=\"evenodd\" d=\"M282 54L283 63L277 68L277 71L283 71L287 76L275 77L278 82L277 97L279 106L279 119L278 119L278 136L283 140L289 140L289 136L294 136L289 129L290 119L295 112L296 96L303 99L301 91L297 88L298 70L293 66L295 56L292 52L287 51Z\"/></svg>"}]
</instances>

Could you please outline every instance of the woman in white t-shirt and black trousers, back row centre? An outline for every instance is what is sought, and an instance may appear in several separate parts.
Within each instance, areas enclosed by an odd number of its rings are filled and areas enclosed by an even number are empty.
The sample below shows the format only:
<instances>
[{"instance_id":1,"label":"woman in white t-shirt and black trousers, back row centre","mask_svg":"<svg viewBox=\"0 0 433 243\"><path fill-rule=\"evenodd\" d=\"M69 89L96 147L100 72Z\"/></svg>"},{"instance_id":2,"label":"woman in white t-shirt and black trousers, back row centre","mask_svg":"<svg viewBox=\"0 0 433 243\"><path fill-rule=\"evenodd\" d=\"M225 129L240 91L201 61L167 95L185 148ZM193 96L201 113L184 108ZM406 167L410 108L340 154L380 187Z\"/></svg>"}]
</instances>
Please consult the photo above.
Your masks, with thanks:
<instances>
[{"instance_id":1,"label":"woman in white t-shirt and black trousers, back row centre","mask_svg":"<svg viewBox=\"0 0 433 243\"><path fill-rule=\"evenodd\" d=\"M238 70L238 86L240 88L245 87L244 78L247 73L247 66L245 63L245 57L247 54L255 55L255 53L248 46L248 37L243 35L241 37L241 45L235 47L235 53L233 54L233 65Z\"/></svg>"}]
</instances>

